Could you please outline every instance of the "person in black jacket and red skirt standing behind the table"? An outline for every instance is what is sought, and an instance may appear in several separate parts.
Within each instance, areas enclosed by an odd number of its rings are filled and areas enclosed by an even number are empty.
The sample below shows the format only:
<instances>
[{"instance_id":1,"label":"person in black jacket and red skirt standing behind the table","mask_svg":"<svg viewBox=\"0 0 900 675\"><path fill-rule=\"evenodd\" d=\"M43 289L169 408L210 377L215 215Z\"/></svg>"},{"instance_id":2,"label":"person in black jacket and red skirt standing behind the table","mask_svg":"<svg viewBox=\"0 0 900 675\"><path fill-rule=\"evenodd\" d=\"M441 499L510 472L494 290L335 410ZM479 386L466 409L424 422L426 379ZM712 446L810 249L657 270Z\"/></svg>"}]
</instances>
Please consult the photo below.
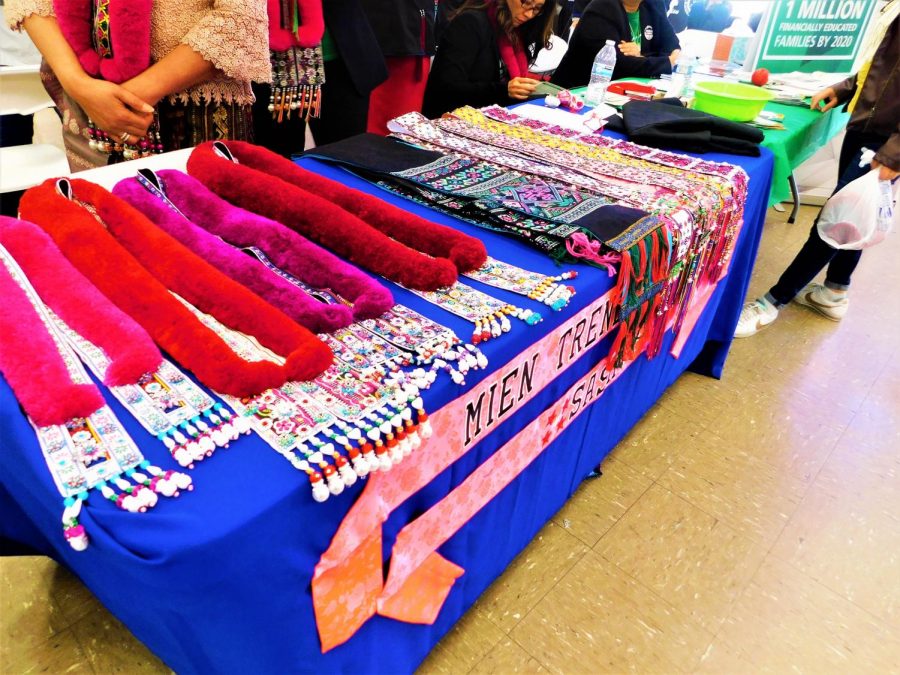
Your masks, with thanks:
<instances>
[{"instance_id":1,"label":"person in black jacket and red skirt standing behind the table","mask_svg":"<svg viewBox=\"0 0 900 675\"><path fill-rule=\"evenodd\" d=\"M362 0L385 57L388 79L372 91L368 131L386 134L389 120L422 110L435 51L438 0Z\"/></svg>"}]
</instances>

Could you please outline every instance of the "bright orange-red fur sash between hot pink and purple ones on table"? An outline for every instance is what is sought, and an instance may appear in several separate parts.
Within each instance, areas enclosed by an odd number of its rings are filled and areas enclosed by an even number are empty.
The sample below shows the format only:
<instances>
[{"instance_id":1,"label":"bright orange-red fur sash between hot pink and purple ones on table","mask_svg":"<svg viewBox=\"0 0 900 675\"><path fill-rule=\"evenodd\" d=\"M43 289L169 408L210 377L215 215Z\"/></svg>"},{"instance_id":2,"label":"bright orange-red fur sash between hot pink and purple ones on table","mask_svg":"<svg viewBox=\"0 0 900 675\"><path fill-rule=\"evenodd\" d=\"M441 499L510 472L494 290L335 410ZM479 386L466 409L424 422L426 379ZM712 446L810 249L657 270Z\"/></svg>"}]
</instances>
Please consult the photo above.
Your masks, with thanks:
<instances>
[{"instance_id":1,"label":"bright orange-red fur sash between hot pink and purple ones on table","mask_svg":"<svg viewBox=\"0 0 900 675\"><path fill-rule=\"evenodd\" d=\"M207 386L249 396L288 380L310 379L331 364L331 351L312 333L191 253L121 199L84 180L63 179L59 184L73 199L49 180L23 195L22 215L40 225L76 268ZM255 336L286 362L279 366L243 360L169 289L224 325Z\"/></svg>"}]
</instances>

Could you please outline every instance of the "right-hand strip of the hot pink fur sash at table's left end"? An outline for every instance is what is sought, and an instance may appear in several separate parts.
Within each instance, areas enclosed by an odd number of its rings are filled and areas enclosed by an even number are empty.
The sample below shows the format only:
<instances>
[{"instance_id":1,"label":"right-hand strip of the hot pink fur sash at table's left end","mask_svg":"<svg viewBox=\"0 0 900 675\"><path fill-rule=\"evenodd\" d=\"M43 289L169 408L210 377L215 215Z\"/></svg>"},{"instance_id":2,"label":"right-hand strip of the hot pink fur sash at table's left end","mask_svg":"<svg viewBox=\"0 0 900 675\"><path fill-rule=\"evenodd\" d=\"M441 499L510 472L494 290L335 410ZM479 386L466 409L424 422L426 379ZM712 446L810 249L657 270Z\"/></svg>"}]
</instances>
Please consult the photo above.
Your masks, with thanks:
<instances>
[{"instance_id":1,"label":"right-hand strip of the hot pink fur sash at table's left end","mask_svg":"<svg viewBox=\"0 0 900 675\"><path fill-rule=\"evenodd\" d=\"M133 384L159 367L162 356L147 331L76 270L41 228L0 217L0 244L25 272L41 301L106 354L110 366L103 376L105 384Z\"/></svg>"}]
</instances>

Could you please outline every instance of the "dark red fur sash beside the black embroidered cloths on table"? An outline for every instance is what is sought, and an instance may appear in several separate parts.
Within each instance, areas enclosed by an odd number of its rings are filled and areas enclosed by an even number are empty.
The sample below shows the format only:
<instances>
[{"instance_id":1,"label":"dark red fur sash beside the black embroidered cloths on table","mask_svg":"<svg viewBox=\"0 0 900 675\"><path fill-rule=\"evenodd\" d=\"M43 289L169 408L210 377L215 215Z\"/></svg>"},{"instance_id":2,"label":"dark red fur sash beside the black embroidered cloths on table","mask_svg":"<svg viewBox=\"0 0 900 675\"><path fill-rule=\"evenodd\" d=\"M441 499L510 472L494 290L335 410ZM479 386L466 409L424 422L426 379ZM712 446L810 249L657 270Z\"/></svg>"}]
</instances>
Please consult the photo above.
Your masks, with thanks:
<instances>
[{"instance_id":1,"label":"dark red fur sash beside the black embroidered cloths on table","mask_svg":"<svg viewBox=\"0 0 900 675\"><path fill-rule=\"evenodd\" d=\"M425 291L449 286L457 270L479 267L487 257L474 237L317 176L265 148L229 141L227 151L236 163L213 143L197 146L188 172L233 204L284 223L404 286Z\"/></svg>"}]
</instances>

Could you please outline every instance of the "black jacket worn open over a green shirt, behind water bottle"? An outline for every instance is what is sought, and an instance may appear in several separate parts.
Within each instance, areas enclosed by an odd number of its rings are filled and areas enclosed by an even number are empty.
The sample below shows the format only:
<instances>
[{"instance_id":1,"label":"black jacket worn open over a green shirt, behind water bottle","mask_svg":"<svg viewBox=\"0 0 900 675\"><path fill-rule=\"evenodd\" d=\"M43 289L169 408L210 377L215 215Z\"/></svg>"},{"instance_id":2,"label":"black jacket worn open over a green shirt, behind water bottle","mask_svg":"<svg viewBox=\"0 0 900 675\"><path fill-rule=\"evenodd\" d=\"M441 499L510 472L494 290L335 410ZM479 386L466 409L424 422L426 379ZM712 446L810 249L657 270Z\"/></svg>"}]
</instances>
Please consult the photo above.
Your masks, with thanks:
<instances>
[{"instance_id":1,"label":"black jacket worn open over a green shirt, behind water bottle","mask_svg":"<svg viewBox=\"0 0 900 675\"><path fill-rule=\"evenodd\" d=\"M613 79L622 77L659 77L672 72L669 54L679 48L678 38L666 18L662 0L644 0L640 7L641 54L623 56L616 50ZM597 52L607 40L631 42L628 16L621 0L592 0L584 10L572 39L569 51L551 81L571 88L587 84Z\"/></svg>"}]
</instances>

